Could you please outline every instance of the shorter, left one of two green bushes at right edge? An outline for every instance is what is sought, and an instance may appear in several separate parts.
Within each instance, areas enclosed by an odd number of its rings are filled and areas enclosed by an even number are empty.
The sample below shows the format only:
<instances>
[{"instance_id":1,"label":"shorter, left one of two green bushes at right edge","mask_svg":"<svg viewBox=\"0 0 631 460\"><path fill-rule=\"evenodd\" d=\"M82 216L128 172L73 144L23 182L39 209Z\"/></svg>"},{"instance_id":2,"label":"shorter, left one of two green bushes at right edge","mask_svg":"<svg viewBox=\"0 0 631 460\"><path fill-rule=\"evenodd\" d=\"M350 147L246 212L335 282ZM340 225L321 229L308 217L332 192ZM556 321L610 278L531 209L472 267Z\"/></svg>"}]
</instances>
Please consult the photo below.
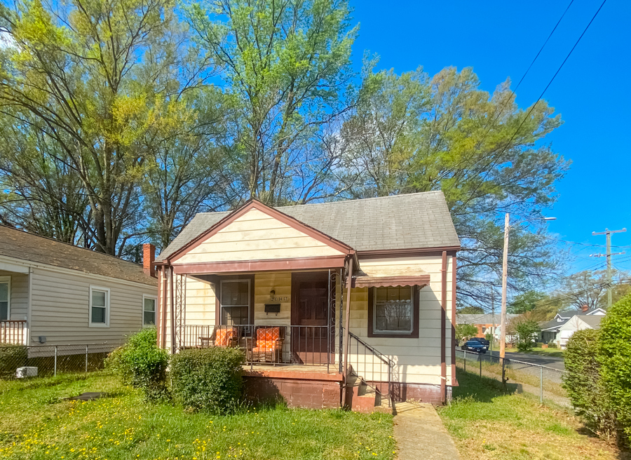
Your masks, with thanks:
<instances>
[{"instance_id":1,"label":"shorter, left one of two green bushes at right edge","mask_svg":"<svg viewBox=\"0 0 631 460\"><path fill-rule=\"evenodd\" d=\"M599 331L574 332L565 349L563 386L576 413L604 438L616 439L616 410L600 376Z\"/></svg>"}]
</instances>

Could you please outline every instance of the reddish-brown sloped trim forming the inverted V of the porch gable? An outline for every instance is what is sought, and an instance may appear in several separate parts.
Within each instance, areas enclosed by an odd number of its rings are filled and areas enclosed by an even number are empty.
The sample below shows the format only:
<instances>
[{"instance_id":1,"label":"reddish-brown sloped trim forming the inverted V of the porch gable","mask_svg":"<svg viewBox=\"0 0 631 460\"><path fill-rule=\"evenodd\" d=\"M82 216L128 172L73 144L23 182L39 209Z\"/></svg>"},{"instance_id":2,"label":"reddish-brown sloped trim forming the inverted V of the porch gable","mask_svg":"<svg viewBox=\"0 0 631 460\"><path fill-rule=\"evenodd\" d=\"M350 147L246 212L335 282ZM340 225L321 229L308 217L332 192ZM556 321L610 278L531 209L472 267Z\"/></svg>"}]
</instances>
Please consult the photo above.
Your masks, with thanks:
<instances>
[{"instance_id":1,"label":"reddish-brown sloped trim forming the inverted V of the porch gable","mask_svg":"<svg viewBox=\"0 0 631 460\"><path fill-rule=\"evenodd\" d=\"M340 252L344 252L345 255L351 254L353 252L353 248L351 248L351 246L347 245L346 243L336 240L332 236L328 236L327 234L324 234L318 229L314 229L312 226L308 226L307 224L300 222L298 219L295 219L294 217L286 215L285 213L280 212L279 210L271 208L270 206L265 205L261 203L260 201L252 199L248 201L247 203L245 203L240 208L231 212L231 214L221 219L219 222L217 222L217 224L211 226L210 229L204 231L201 235L196 236L196 238L193 238L191 241L189 241L189 243L186 243L185 245L183 245L182 248L179 248L177 251L173 252L172 255L168 257L167 261L161 261L161 262L165 263L168 261L169 262L176 261L177 259L179 259L179 257L182 257L182 255L186 254L186 252L189 252L191 249L196 248L198 245L203 243L203 241L205 241L207 238L210 238L211 236L217 234L218 231L226 228L226 226L228 226L229 224L234 222L236 219L245 215L248 211L253 210L253 209L264 212L266 215L269 215L270 217L273 217L274 219L277 219L278 221L283 222L283 224L287 224L291 226L293 229L296 229L308 236L311 236L311 238L314 238L315 240L320 241L320 243L325 243L326 245L330 246L333 249L339 250Z\"/></svg>"}]
</instances>

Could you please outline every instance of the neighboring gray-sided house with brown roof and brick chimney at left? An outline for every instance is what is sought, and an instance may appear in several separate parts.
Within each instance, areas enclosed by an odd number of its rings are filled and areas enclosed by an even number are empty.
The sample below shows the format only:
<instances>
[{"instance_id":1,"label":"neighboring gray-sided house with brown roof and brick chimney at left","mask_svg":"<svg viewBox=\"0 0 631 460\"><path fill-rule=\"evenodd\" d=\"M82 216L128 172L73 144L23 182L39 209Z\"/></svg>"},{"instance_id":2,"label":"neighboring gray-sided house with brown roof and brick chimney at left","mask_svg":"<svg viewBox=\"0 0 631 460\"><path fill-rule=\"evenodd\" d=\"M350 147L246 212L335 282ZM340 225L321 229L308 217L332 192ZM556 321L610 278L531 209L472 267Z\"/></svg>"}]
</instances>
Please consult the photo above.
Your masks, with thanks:
<instances>
[{"instance_id":1,"label":"neighboring gray-sided house with brown roof and brick chimney at left","mask_svg":"<svg viewBox=\"0 0 631 460\"><path fill-rule=\"evenodd\" d=\"M147 267L0 225L0 343L101 344L154 325Z\"/></svg>"}]
</instances>

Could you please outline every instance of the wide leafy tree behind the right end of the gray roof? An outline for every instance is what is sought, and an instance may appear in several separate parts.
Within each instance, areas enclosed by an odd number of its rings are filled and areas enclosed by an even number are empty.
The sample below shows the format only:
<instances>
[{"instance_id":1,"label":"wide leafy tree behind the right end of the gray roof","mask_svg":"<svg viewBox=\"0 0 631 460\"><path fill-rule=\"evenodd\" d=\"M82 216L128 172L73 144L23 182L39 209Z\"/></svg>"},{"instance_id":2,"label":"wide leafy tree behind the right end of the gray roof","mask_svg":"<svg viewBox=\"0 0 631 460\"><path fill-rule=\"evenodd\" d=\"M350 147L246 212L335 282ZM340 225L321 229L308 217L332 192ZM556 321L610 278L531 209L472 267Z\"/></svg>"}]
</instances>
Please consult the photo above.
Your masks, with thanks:
<instances>
[{"instance_id":1,"label":"wide leafy tree behind the right end of the gray roof","mask_svg":"<svg viewBox=\"0 0 631 460\"><path fill-rule=\"evenodd\" d=\"M510 288L528 290L550 276L557 251L538 218L569 164L540 145L561 124L553 109L544 101L518 107L510 81L489 95L472 69L449 67L431 79L420 69L363 75L358 108L341 130L340 193L442 190L463 245L460 302L489 303L487 280L501 275L506 211L528 221L511 230Z\"/></svg>"}]
</instances>

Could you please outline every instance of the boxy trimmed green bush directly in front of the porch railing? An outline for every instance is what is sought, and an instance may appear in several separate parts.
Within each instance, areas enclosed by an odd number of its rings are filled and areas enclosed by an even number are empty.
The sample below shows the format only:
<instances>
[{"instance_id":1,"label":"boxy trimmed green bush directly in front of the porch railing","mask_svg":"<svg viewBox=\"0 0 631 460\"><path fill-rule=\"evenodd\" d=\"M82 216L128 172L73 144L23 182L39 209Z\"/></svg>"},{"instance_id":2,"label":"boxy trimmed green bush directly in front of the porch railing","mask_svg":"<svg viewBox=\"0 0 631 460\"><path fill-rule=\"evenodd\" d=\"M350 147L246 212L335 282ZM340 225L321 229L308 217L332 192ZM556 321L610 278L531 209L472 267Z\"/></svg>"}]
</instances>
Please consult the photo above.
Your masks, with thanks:
<instances>
[{"instance_id":1,"label":"boxy trimmed green bush directly in front of the porch railing","mask_svg":"<svg viewBox=\"0 0 631 460\"><path fill-rule=\"evenodd\" d=\"M175 400L194 410L232 412L243 393L245 356L237 349L213 347L184 350L171 357Z\"/></svg>"}]
</instances>

